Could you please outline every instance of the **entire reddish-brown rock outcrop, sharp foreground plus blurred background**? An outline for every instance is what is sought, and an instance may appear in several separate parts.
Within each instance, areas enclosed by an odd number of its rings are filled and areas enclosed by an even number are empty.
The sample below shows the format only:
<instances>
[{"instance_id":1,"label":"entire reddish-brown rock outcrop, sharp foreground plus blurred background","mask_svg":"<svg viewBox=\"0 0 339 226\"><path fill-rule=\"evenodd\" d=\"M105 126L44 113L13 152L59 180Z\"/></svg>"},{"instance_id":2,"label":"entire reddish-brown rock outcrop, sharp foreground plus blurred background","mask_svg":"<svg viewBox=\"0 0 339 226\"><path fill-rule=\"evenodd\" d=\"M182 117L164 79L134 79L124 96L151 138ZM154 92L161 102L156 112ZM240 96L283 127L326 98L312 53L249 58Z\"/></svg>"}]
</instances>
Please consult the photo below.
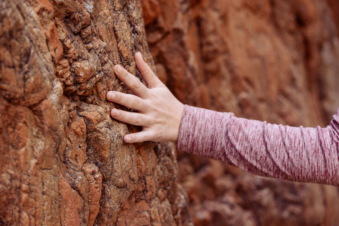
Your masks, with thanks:
<instances>
[{"instance_id":1,"label":"entire reddish-brown rock outcrop, sharp foreground plus blurred background","mask_svg":"<svg viewBox=\"0 0 339 226\"><path fill-rule=\"evenodd\" d=\"M125 144L140 128L113 120L109 110L125 108L105 100L130 92L113 66L140 78L141 51L185 104L325 126L339 106L336 6L2 0L0 225L337 225L336 187Z\"/></svg>"}]
</instances>

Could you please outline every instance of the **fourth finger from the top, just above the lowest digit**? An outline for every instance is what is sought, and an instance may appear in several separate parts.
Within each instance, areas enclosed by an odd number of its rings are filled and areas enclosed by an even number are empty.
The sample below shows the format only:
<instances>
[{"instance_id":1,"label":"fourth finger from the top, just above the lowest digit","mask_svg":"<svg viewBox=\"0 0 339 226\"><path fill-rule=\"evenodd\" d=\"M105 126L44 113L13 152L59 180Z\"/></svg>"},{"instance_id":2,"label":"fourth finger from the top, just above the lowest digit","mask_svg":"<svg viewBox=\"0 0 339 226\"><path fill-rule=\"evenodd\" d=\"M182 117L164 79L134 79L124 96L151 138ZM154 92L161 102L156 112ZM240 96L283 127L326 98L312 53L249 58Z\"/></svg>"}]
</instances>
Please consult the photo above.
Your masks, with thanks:
<instances>
[{"instance_id":1,"label":"fourth finger from the top, just above the lowest digit","mask_svg":"<svg viewBox=\"0 0 339 226\"><path fill-rule=\"evenodd\" d=\"M135 126L147 126L149 122L148 118L143 114L122 111L115 108L111 110L111 116L119 121Z\"/></svg>"}]
</instances>

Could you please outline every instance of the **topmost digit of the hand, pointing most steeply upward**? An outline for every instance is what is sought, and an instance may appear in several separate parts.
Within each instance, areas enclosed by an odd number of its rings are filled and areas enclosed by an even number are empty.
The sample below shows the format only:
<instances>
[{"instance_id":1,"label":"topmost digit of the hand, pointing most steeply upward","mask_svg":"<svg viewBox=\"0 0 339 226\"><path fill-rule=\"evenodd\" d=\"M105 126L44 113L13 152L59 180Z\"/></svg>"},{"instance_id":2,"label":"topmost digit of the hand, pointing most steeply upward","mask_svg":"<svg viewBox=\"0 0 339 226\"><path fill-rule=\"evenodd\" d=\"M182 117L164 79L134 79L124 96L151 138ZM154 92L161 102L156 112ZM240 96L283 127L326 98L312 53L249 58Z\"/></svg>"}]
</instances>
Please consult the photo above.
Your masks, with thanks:
<instances>
[{"instance_id":1,"label":"topmost digit of the hand, pointing most steeply upward","mask_svg":"<svg viewBox=\"0 0 339 226\"><path fill-rule=\"evenodd\" d=\"M137 65L138 70L141 73L142 78L145 80L148 88L152 89L152 88L162 84L162 82L154 74L152 69L143 60L140 52L137 52L135 54L135 63Z\"/></svg>"}]
</instances>

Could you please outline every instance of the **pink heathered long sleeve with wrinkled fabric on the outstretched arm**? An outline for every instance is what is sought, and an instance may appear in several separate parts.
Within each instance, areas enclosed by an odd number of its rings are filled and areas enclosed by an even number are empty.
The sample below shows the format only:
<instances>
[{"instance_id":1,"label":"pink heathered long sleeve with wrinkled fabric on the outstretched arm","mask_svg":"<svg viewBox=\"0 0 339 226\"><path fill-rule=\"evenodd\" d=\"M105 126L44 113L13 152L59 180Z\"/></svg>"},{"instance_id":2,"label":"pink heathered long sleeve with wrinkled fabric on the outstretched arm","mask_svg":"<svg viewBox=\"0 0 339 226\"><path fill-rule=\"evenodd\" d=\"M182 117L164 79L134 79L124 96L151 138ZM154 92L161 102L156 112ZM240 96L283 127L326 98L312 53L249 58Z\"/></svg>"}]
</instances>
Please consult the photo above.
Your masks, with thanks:
<instances>
[{"instance_id":1,"label":"pink heathered long sleeve with wrinkled fabric on the outstretched arm","mask_svg":"<svg viewBox=\"0 0 339 226\"><path fill-rule=\"evenodd\" d=\"M339 185L339 109L326 128L303 128L185 105L176 145L260 176Z\"/></svg>"}]
</instances>

